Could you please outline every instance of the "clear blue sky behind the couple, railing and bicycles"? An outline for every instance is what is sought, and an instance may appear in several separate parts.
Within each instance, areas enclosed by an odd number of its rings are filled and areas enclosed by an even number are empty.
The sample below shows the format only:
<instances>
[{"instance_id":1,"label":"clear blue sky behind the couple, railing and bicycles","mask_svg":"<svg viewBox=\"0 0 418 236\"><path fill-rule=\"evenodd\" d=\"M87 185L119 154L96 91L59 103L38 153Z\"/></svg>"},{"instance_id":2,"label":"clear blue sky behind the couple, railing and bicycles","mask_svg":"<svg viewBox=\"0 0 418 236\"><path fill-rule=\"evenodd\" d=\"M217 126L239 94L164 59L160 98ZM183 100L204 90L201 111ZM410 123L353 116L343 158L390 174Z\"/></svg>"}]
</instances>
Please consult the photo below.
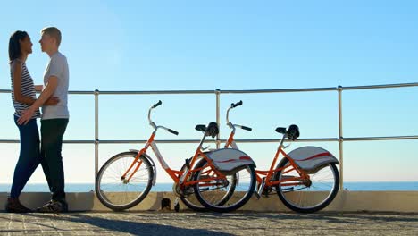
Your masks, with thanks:
<instances>
[{"instance_id":1,"label":"clear blue sky behind the couple, railing and bicycles","mask_svg":"<svg viewBox=\"0 0 418 236\"><path fill-rule=\"evenodd\" d=\"M0 89L10 89L7 45L14 30L34 42L27 65L41 83L47 55L39 30L63 32L71 90L287 89L418 81L416 1L6 1L0 8ZM346 91L344 136L418 134L418 88ZM199 139L196 123L215 119L214 96L100 97L100 139L146 139L146 108L180 131L159 139ZM222 96L252 126L237 139L277 138L274 128L297 123L301 138L338 136L337 92ZM18 139L10 95L1 94L0 139ZM91 96L71 96L65 139L94 139ZM418 140L345 143L346 181L417 181ZM291 148L305 144L295 144ZM337 143L317 143L338 156ZM0 144L0 182L12 181L19 146ZM102 145L100 161L135 145ZM138 146L138 148L141 146ZM178 168L196 145L162 145ZM266 167L276 144L241 145ZM91 146L66 145L69 182L93 181ZM170 156L170 157L169 157ZM41 168L32 182L45 182ZM158 181L170 181L161 172Z\"/></svg>"}]
</instances>

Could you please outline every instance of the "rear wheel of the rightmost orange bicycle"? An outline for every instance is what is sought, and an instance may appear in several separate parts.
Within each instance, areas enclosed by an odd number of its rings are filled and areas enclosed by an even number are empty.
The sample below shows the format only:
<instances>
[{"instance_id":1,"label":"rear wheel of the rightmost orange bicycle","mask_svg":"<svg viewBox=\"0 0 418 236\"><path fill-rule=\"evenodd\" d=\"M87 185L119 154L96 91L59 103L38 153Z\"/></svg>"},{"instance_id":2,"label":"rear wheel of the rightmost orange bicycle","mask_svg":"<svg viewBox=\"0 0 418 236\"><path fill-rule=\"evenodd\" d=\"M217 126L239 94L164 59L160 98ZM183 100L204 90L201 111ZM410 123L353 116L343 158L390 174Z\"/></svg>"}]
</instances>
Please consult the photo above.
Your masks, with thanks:
<instances>
[{"instance_id":1,"label":"rear wheel of the rightmost orange bicycle","mask_svg":"<svg viewBox=\"0 0 418 236\"><path fill-rule=\"evenodd\" d=\"M276 181L299 177L291 169L288 158L280 162L278 168L285 167L275 174ZM289 172L288 172L289 171ZM288 173L287 173L288 172ZM314 213L330 205L339 191L339 171L335 164L326 164L309 173L310 181L284 181L275 186L280 200L288 208L300 213ZM286 184L295 184L285 186Z\"/></svg>"}]
</instances>

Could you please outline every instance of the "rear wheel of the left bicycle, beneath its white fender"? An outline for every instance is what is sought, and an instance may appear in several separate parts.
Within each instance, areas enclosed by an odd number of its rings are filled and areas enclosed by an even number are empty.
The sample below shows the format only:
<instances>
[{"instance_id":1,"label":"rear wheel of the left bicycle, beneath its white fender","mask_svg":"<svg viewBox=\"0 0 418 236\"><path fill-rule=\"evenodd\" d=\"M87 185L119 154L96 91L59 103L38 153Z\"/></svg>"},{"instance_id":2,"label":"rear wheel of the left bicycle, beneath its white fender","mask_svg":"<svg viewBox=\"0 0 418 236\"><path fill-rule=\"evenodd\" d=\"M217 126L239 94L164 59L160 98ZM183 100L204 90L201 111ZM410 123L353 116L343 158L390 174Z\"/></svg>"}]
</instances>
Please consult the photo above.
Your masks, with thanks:
<instances>
[{"instance_id":1,"label":"rear wheel of the left bicycle, beneath its white fender","mask_svg":"<svg viewBox=\"0 0 418 236\"><path fill-rule=\"evenodd\" d=\"M203 168L196 172L194 181L207 179L208 173L213 173L213 169L205 165L205 159L196 165L196 168ZM216 174L210 174L210 177L216 177ZM226 179L196 183L195 195L200 204L209 210L230 212L244 206L253 196L255 181L254 166L247 165L244 169L227 174Z\"/></svg>"}]
</instances>

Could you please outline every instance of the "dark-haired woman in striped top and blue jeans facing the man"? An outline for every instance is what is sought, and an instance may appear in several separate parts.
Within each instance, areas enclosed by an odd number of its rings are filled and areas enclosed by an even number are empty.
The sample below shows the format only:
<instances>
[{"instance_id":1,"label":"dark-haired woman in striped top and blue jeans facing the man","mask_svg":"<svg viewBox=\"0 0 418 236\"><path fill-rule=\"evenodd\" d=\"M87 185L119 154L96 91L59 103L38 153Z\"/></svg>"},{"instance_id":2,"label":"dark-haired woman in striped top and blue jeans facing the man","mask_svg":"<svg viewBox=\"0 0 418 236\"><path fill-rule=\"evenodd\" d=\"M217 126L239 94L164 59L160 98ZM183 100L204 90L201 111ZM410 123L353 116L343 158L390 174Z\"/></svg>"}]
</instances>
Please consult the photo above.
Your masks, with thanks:
<instances>
[{"instance_id":1,"label":"dark-haired woman in striped top and blue jeans facing the man","mask_svg":"<svg viewBox=\"0 0 418 236\"><path fill-rule=\"evenodd\" d=\"M25 31L16 31L9 40L9 59L12 78L12 100L15 109L14 122L19 128L21 137L21 152L18 163L14 169L13 184L10 197L7 199L6 211L14 213L26 213L31 210L21 205L19 197L21 190L25 187L32 173L40 163L39 154L39 133L37 118L40 112L37 110L30 121L25 125L19 125L17 120L20 114L33 104L36 97L36 89L41 90L42 86L34 86L26 67L26 59L32 53L32 42ZM46 104L56 105L56 97L50 98Z\"/></svg>"}]
</instances>

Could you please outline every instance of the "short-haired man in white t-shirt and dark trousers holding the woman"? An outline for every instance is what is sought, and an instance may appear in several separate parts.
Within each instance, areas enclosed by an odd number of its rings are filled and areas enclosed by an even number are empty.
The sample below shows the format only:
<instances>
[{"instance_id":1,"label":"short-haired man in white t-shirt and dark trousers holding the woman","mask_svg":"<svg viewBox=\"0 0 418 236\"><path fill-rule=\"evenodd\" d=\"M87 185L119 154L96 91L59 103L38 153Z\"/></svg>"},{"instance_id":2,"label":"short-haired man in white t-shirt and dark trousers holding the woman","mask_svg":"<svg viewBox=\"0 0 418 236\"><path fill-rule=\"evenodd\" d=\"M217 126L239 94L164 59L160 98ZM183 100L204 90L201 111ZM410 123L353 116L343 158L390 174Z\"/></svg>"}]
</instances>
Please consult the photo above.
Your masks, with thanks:
<instances>
[{"instance_id":1,"label":"short-haired man in white t-shirt and dark trousers holding the woman","mask_svg":"<svg viewBox=\"0 0 418 236\"><path fill-rule=\"evenodd\" d=\"M68 211L65 200L63 156L63 134L69 121L67 107L69 70L67 58L58 51L61 32L55 27L41 30L39 40L42 52L50 60L44 72L44 89L37 101L18 120L19 124L29 122L32 114L42 106L41 117L41 164L51 190L51 200L39 207L39 212L59 213ZM57 105L45 105L49 97L58 97Z\"/></svg>"}]
</instances>

